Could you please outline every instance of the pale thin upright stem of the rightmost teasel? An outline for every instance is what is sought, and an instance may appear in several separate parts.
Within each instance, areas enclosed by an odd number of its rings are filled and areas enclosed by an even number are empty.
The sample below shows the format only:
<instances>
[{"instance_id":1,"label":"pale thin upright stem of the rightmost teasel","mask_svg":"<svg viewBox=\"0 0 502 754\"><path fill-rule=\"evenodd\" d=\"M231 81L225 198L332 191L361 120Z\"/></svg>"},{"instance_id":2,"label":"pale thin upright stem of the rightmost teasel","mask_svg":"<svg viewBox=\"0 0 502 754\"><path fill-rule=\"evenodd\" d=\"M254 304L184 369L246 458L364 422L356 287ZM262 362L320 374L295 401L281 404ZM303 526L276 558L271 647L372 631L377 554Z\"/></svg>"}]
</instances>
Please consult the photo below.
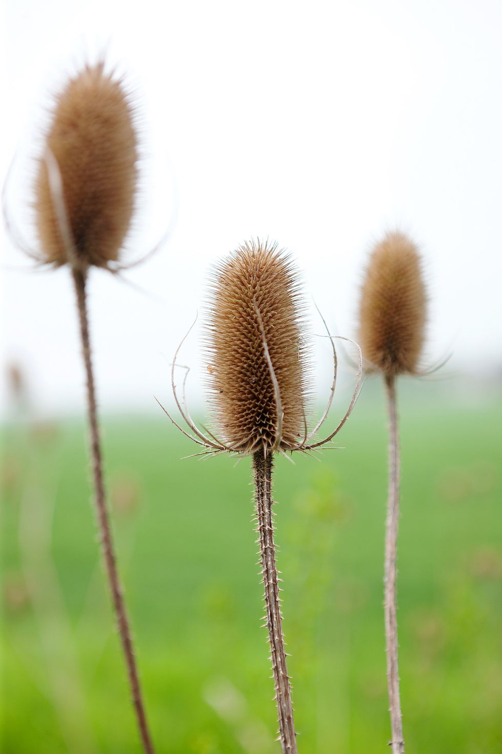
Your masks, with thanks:
<instances>
[{"instance_id":1,"label":"pale thin upright stem of the rightmost teasel","mask_svg":"<svg viewBox=\"0 0 502 754\"><path fill-rule=\"evenodd\" d=\"M392 754L403 754L403 719L397 666L397 529L399 526L400 455L397 430L396 381L385 378L389 415L389 467L387 524L385 527L384 610L387 651L387 685L391 713Z\"/></svg>"}]
</instances>

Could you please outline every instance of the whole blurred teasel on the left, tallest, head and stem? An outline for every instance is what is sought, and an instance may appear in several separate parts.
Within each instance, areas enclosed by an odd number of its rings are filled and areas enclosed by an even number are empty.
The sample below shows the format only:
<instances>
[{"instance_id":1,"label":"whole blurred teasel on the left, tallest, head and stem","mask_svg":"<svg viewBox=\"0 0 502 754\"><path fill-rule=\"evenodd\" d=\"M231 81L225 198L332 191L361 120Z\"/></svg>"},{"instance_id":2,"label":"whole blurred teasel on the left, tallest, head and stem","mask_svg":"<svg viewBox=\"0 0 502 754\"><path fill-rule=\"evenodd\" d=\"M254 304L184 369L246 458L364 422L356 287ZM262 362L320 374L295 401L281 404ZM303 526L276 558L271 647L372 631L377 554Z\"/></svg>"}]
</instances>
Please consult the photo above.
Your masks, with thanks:
<instances>
[{"instance_id":1,"label":"whole blurred teasel on the left, tallest, head and stem","mask_svg":"<svg viewBox=\"0 0 502 754\"><path fill-rule=\"evenodd\" d=\"M56 98L38 163L35 213L38 262L68 265L75 284L102 552L141 742L145 752L153 754L106 504L87 314L90 268L117 271L132 219L138 178L134 119L122 81L106 73L103 62L85 66L70 78Z\"/></svg>"}]
</instances>

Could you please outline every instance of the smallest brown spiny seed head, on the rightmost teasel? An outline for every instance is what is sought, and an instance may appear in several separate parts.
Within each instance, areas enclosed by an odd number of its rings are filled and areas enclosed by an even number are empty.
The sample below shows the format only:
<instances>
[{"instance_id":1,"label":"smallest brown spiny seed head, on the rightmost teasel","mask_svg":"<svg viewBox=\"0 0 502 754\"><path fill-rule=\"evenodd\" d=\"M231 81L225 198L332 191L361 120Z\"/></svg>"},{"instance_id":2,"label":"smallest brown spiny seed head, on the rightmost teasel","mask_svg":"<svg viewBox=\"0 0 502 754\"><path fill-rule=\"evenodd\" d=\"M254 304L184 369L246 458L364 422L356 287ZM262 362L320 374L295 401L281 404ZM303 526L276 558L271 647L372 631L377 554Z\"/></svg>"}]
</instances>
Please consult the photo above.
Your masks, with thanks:
<instances>
[{"instance_id":1,"label":"smallest brown spiny seed head, on the rightmost teasel","mask_svg":"<svg viewBox=\"0 0 502 754\"><path fill-rule=\"evenodd\" d=\"M417 247L402 233L386 234L364 278L359 336L364 357L386 376L417 371L426 303Z\"/></svg>"}]
</instances>

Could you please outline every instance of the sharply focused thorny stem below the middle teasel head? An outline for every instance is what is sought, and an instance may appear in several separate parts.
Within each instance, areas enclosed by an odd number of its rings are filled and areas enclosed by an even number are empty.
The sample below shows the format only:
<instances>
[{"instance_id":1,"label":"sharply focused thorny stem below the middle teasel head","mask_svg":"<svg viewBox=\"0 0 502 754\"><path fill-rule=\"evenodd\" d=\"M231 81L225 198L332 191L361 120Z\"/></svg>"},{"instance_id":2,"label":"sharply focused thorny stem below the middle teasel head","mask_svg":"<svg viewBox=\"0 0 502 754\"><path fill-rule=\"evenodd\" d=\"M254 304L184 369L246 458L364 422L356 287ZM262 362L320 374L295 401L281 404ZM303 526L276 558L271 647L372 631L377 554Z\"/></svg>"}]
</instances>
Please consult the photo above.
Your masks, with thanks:
<instances>
[{"instance_id":1,"label":"sharply focused thorny stem below the middle teasel head","mask_svg":"<svg viewBox=\"0 0 502 754\"><path fill-rule=\"evenodd\" d=\"M275 565L274 526L272 521L272 453L253 455L256 486L257 531L260 535L260 555L265 587L266 624L272 652L275 700L279 718L279 732L284 754L297 754L297 734L294 730L291 685L286 667L286 651L282 635L281 601L279 599L277 566Z\"/></svg>"}]
</instances>

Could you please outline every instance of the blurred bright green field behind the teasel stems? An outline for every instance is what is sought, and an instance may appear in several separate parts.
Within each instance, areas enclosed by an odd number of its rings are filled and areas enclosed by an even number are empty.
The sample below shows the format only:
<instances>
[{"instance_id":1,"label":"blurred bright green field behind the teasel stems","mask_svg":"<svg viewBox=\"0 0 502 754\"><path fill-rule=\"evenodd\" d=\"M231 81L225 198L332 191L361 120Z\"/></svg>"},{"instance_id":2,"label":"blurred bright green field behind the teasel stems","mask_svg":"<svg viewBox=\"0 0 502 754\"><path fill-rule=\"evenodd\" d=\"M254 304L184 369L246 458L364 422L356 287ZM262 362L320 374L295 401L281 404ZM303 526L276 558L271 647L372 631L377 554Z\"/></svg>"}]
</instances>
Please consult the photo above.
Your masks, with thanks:
<instances>
[{"instance_id":1,"label":"blurred bright green field behind the teasel stems","mask_svg":"<svg viewBox=\"0 0 502 754\"><path fill-rule=\"evenodd\" d=\"M500 405L401 404L406 751L502 751ZM386 752L386 433L363 392L321 463L276 464L278 565L303 754ZM11 426L2 452L2 754L140 752L97 555L84 425ZM166 418L109 418L120 570L159 754L277 752L249 459Z\"/></svg>"}]
</instances>

